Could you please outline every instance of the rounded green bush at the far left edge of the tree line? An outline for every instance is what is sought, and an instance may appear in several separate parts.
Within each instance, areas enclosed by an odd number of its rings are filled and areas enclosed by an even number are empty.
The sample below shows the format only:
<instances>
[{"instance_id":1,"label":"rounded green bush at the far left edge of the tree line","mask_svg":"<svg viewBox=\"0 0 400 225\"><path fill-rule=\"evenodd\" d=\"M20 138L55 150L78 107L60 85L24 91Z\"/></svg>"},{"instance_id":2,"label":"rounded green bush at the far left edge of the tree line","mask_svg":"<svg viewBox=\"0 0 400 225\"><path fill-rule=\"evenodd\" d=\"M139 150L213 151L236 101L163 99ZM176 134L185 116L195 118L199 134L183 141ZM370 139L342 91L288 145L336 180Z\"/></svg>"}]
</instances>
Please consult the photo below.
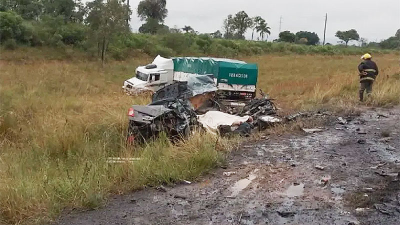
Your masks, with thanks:
<instances>
[{"instance_id":1,"label":"rounded green bush at the far left edge of the tree line","mask_svg":"<svg viewBox=\"0 0 400 225\"><path fill-rule=\"evenodd\" d=\"M19 39L22 33L22 17L13 11L0 11L1 42Z\"/></svg>"}]
</instances>

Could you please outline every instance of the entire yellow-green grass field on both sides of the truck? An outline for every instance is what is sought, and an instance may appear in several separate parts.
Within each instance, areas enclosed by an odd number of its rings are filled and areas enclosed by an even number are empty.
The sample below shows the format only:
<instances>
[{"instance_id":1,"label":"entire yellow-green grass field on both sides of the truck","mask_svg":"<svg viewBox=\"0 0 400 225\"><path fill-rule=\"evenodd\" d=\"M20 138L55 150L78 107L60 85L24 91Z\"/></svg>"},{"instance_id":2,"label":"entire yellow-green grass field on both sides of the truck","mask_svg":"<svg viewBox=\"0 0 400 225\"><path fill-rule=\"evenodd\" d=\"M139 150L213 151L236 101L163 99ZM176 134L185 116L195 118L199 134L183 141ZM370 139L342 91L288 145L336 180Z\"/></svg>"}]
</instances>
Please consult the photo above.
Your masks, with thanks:
<instances>
[{"instance_id":1,"label":"entire yellow-green grass field on both sides of the truck","mask_svg":"<svg viewBox=\"0 0 400 225\"><path fill-rule=\"evenodd\" d=\"M126 96L124 79L151 58L100 63L79 53L48 57L29 48L1 52L0 222L42 223L63 208L100 206L110 193L195 179L223 163L236 141L196 132L125 147L126 110L148 96ZM374 55L380 74L366 104L399 103L399 56ZM282 113L357 104L358 55L264 55L240 58L259 66L258 87ZM140 157L107 164L108 156Z\"/></svg>"}]
</instances>

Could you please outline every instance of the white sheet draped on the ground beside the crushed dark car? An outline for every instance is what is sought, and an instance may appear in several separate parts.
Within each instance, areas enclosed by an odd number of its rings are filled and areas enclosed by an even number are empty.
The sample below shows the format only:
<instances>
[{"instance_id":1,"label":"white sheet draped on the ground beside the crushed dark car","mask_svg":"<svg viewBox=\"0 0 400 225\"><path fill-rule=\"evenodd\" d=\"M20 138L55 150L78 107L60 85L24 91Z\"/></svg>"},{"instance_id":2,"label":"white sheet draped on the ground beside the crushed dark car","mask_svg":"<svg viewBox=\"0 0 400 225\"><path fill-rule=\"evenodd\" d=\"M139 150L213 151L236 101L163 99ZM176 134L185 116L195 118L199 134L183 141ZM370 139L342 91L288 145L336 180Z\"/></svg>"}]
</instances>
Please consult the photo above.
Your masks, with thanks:
<instances>
[{"instance_id":1,"label":"white sheet draped on the ground beside the crushed dark car","mask_svg":"<svg viewBox=\"0 0 400 225\"><path fill-rule=\"evenodd\" d=\"M211 133L216 133L219 125L239 124L247 121L249 115L231 115L221 111L207 111L205 114L197 115L197 121Z\"/></svg>"}]
</instances>

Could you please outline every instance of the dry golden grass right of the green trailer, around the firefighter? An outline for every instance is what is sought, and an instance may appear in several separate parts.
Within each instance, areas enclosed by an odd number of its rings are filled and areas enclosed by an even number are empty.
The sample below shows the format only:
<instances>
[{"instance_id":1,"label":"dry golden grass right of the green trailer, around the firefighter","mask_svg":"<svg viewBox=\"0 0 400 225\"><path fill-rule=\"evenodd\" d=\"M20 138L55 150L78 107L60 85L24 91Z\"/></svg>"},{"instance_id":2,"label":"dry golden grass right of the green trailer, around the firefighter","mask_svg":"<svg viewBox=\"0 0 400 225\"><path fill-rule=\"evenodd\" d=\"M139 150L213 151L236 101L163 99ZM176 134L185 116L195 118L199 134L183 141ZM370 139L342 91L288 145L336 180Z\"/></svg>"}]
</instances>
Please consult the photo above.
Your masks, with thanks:
<instances>
[{"instance_id":1,"label":"dry golden grass right of the green trailer, around the firefighter","mask_svg":"<svg viewBox=\"0 0 400 225\"><path fill-rule=\"evenodd\" d=\"M373 84L371 97L364 104L398 104L399 55L373 56L379 75ZM247 57L245 60L258 64L258 87L276 98L282 108L335 108L359 104L358 55L266 55Z\"/></svg>"}]
</instances>

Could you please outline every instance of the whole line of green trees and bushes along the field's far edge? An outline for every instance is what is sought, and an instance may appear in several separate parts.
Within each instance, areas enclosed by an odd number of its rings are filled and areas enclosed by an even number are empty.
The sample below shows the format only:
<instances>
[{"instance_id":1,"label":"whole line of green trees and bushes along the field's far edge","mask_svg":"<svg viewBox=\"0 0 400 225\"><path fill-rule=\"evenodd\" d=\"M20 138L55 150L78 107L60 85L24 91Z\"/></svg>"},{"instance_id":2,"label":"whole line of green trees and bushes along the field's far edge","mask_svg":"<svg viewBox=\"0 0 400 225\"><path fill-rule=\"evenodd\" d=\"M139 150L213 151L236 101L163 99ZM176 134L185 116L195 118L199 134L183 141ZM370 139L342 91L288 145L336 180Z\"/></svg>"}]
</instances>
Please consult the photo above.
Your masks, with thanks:
<instances>
[{"instance_id":1,"label":"whole line of green trees and bushes along the field's far edge","mask_svg":"<svg viewBox=\"0 0 400 225\"><path fill-rule=\"evenodd\" d=\"M143 21L138 30L140 33L172 35L184 32L188 36L182 37L182 41L189 41L194 44L191 47L204 53L212 45L210 38L240 40L245 39L244 34L250 30L251 40L263 41L271 33L264 18L259 15L250 17L245 11L227 15L222 21L221 30L203 34L199 34L190 25L165 25L164 20L168 14L166 0L141 0L135 12ZM146 40L131 36L131 14L127 0L92 0L85 4L81 0L0 0L0 42L9 48L24 44L73 45L85 50L95 49L104 63L107 52L118 51L123 47L145 46ZM351 40L358 40L361 46L398 48L400 45L398 31L379 43L368 43L354 29L337 31L336 36L346 45ZM162 43L169 46L168 43L173 42L174 37L162 37ZM315 32L292 33L286 30L280 32L279 38L273 41L317 45L319 37ZM234 44L219 42L235 48Z\"/></svg>"}]
</instances>

